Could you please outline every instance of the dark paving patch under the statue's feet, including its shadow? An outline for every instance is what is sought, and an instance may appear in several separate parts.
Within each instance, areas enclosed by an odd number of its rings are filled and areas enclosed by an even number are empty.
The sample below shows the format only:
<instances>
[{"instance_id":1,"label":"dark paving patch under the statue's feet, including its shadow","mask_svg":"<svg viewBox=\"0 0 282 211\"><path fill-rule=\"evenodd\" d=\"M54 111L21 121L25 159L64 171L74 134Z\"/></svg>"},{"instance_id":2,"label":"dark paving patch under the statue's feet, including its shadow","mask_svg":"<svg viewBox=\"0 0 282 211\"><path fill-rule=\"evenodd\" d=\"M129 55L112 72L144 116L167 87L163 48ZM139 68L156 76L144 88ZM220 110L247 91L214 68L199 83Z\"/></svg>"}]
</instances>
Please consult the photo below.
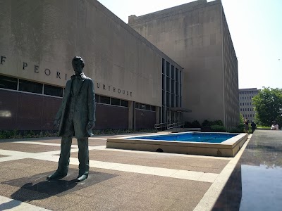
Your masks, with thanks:
<instances>
[{"instance_id":1,"label":"dark paving patch under the statue's feet, including its shadow","mask_svg":"<svg viewBox=\"0 0 282 211\"><path fill-rule=\"evenodd\" d=\"M16 193L12 194L12 198L20 201L38 200L35 195L25 194L22 191L30 191L29 193L39 192L46 196L65 196L74 191L81 190L94 184L99 184L102 181L116 177L116 174L107 174L101 172L90 172L89 177L80 183L75 183L75 178L78 176L78 170L70 169L68 175L60 180L46 180L46 177L53 172L44 172L43 174L36 174L32 177L23 177L20 179L13 179L10 181L3 181L1 184L9 186L20 187ZM24 198L23 198L24 197ZM45 198L45 196L43 197Z\"/></svg>"}]
</instances>

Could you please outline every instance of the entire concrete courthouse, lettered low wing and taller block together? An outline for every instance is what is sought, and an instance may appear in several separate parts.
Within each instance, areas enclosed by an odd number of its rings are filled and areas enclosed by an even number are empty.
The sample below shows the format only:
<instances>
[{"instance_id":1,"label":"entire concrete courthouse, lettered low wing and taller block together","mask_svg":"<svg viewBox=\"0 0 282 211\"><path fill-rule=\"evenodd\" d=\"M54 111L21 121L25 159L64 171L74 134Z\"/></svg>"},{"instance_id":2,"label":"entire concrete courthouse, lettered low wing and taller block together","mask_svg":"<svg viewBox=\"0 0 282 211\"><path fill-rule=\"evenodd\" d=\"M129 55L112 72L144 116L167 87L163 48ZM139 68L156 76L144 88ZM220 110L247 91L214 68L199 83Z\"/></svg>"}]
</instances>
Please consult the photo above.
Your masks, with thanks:
<instances>
[{"instance_id":1,"label":"entire concrete courthouse, lettered low wing and taller block together","mask_svg":"<svg viewBox=\"0 0 282 211\"><path fill-rule=\"evenodd\" d=\"M238 66L221 1L132 17L96 0L0 1L0 129L51 129L74 56L94 80L97 129L235 125Z\"/></svg>"}]
</instances>

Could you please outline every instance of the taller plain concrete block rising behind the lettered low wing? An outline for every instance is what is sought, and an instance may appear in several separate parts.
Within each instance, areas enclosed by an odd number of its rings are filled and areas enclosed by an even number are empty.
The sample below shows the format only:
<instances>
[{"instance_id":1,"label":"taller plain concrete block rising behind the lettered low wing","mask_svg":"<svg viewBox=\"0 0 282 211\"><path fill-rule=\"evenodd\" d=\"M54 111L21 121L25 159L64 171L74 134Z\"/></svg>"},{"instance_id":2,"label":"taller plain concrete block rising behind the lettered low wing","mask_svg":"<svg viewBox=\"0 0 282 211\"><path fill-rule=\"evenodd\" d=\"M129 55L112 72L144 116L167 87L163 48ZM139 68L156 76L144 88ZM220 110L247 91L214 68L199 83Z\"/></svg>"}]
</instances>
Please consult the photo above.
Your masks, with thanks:
<instances>
[{"instance_id":1,"label":"taller plain concrete block rising behind the lettered low wing","mask_svg":"<svg viewBox=\"0 0 282 211\"><path fill-rule=\"evenodd\" d=\"M239 123L238 60L221 1L193 1L128 24L180 64L186 121Z\"/></svg>"}]
</instances>

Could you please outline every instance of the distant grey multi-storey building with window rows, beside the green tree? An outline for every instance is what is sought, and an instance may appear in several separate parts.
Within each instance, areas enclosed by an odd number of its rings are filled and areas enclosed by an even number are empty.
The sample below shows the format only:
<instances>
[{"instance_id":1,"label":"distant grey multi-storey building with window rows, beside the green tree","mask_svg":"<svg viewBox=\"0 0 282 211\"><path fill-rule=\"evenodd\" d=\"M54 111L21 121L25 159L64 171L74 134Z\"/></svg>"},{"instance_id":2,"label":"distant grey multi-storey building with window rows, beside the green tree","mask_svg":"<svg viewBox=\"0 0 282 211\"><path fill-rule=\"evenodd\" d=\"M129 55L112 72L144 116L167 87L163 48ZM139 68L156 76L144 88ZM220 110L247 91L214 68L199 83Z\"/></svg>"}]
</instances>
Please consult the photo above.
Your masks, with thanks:
<instances>
[{"instance_id":1,"label":"distant grey multi-storey building with window rows, beside the green tree","mask_svg":"<svg viewBox=\"0 0 282 211\"><path fill-rule=\"evenodd\" d=\"M255 109L252 98L259 93L260 89L239 89L240 113L247 117L250 122L255 120Z\"/></svg>"}]
</instances>

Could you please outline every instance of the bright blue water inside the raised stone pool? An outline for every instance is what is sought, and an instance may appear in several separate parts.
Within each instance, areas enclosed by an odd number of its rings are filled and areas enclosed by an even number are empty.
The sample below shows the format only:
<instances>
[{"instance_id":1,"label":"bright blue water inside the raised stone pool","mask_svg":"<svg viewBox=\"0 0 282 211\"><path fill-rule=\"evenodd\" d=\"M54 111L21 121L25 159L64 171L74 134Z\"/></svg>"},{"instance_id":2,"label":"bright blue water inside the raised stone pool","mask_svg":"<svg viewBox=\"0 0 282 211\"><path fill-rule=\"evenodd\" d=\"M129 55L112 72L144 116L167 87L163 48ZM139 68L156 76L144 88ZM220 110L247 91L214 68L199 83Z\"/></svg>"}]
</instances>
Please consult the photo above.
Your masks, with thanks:
<instances>
[{"instance_id":1,"label":"bright blue water inside the raised stone pool","mask_svg":"<svg viewBox=\"0 0 282 211\"><path fill-rule=\"evenodd\" d=\"M238 134L220 134L220 133L200 133L187 132L180 134L168 134L159 136L135 136L127 139L146 139L152 141L185 141L185 142L205 142L205 143L221 143L227 139L231 139Z\"/></svg>"}]
</instances>

